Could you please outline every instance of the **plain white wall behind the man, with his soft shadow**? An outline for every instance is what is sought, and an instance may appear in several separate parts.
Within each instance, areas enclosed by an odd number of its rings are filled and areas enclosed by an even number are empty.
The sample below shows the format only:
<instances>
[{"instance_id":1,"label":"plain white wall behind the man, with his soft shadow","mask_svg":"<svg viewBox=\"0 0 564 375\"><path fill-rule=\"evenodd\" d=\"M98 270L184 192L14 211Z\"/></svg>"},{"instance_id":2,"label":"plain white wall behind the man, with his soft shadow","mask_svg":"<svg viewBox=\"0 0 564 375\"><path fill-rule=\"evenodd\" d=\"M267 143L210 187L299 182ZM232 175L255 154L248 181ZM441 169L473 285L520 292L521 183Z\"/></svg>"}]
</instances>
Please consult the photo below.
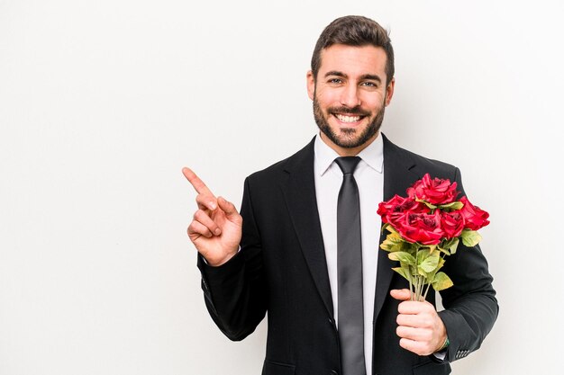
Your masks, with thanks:
<instances>
[{"instance_id":1,"label":"plain white wall behind the man, with his soft shadow","mask_svg":"<svg viewBox=\"0 0 564 375\"><path fill-rule=\"evenodd\" d=\"M180 169L239 204L305 145L314 42L351 13L392 31L388 137L491 214L501 312L455 373L558 372L564 6L352 3L0 0L1 374L259 374L264 322L231 343L205 311Z\"/></svg>"}]
</instances>

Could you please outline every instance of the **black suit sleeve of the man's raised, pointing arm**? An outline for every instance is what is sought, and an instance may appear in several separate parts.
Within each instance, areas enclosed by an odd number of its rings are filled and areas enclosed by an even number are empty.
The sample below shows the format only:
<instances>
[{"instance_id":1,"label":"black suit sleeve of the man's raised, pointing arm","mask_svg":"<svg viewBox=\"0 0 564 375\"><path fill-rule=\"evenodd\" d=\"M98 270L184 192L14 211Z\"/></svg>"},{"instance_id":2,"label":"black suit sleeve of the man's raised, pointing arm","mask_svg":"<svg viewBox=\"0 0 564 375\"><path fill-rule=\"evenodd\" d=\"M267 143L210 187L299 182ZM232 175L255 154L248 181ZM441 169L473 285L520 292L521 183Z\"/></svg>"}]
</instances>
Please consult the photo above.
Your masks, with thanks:
<instances>
[{"instance_id":1,"label":"black suit sleeve of the man's raised, pointing arm","mask_svg":"<svg viewBox=\"0 0 564 375\"><path fill-rule=\"evenodd\" d=\"M264 318L268 294L262 263L249 179L245 180L241 204L243 228L241 250L227 263L213 267L198 254L205 306L224 335L239 341L250 335Z\"/></svg>"}]
</instances>

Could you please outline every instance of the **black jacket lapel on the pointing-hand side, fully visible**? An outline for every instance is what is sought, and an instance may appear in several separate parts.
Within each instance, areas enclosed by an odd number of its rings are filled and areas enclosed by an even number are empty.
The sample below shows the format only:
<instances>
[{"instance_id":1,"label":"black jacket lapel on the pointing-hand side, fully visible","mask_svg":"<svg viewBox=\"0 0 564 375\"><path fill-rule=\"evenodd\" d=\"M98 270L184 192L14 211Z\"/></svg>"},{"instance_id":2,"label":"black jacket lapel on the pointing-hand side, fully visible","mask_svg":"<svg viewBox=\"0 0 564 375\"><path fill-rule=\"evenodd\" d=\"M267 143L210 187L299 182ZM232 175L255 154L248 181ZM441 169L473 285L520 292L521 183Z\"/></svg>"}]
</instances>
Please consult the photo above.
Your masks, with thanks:
<instances>
[{"instance_id":1,"label":"black jacket lapel on the pointing-hand side, fully visible","mask_svg":"<svg viewBox=\"0 0 564 375\"><path fill-rule=\"evenodd\" d=\"M314 140L287 160L285 171L288 177L283 191L290 218L315 286L325 308L333 316L331 284L315 195Z\"/></svg>"}]
</instances>

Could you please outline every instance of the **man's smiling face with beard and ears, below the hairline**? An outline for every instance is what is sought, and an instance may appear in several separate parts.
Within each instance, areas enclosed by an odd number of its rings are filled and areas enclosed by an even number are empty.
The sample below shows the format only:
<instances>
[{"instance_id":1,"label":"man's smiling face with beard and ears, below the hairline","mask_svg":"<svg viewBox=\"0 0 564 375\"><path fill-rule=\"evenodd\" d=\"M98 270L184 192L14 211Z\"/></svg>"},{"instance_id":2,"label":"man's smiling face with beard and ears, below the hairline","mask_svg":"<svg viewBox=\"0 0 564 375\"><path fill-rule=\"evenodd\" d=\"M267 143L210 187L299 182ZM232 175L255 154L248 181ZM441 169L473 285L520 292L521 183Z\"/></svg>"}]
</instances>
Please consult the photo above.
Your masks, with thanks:
<instances>
[{"instance_id":1,"label":"man's smiling face with beard and ears, below the hairline","mask_svg":"<svg viewBox=\"0 0 564 375\"><path fill-rule=\"evenodd\" d=\"M386 52L374 46L332 45L322 51L317 77L308 72L315 122L339 155L357 155L378 137L394 94L394 80L386 79Z\"/></svg>"}]
</instances>

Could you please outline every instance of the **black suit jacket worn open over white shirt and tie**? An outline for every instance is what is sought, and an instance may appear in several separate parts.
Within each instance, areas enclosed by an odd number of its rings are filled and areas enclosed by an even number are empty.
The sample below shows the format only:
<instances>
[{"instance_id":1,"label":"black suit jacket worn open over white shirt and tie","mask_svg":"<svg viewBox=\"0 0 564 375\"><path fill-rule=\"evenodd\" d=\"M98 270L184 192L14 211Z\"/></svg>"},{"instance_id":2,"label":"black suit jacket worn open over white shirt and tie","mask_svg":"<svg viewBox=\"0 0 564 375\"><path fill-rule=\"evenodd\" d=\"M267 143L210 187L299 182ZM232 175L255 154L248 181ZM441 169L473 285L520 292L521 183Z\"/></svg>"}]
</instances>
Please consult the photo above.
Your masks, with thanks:
<instances>
[{"instance_id":1,"label":"black suit jacket worn open over white shirt and tie","mask_svg":"<svg viewBox=\"0 0 564 375\"><path fill-rule=\"evenodd\" d=\"M405 195L425 173L456 181L462 190L458 168L417 156L384 137L385 200ZM263 375L340 374L339 335L315 199L313 140L294 156L246 179L241 216L239 254L220 267L198 261L205 303L215 324L230 339L241 340L268 312ZM380 241L385 236L382 233ZM445 310L440 316L450 339L444 362L399 346L398 301L389 290L408 285L392 271L395 263L387 252L378 244L374 251L378 275L373 374L450 373L449 362L478 349L497 317L496 292L479 247L459 246L443 268L454 282L441 293ZM434 304L434 293L429 294Z\"/></svg>"}]
</instances>

